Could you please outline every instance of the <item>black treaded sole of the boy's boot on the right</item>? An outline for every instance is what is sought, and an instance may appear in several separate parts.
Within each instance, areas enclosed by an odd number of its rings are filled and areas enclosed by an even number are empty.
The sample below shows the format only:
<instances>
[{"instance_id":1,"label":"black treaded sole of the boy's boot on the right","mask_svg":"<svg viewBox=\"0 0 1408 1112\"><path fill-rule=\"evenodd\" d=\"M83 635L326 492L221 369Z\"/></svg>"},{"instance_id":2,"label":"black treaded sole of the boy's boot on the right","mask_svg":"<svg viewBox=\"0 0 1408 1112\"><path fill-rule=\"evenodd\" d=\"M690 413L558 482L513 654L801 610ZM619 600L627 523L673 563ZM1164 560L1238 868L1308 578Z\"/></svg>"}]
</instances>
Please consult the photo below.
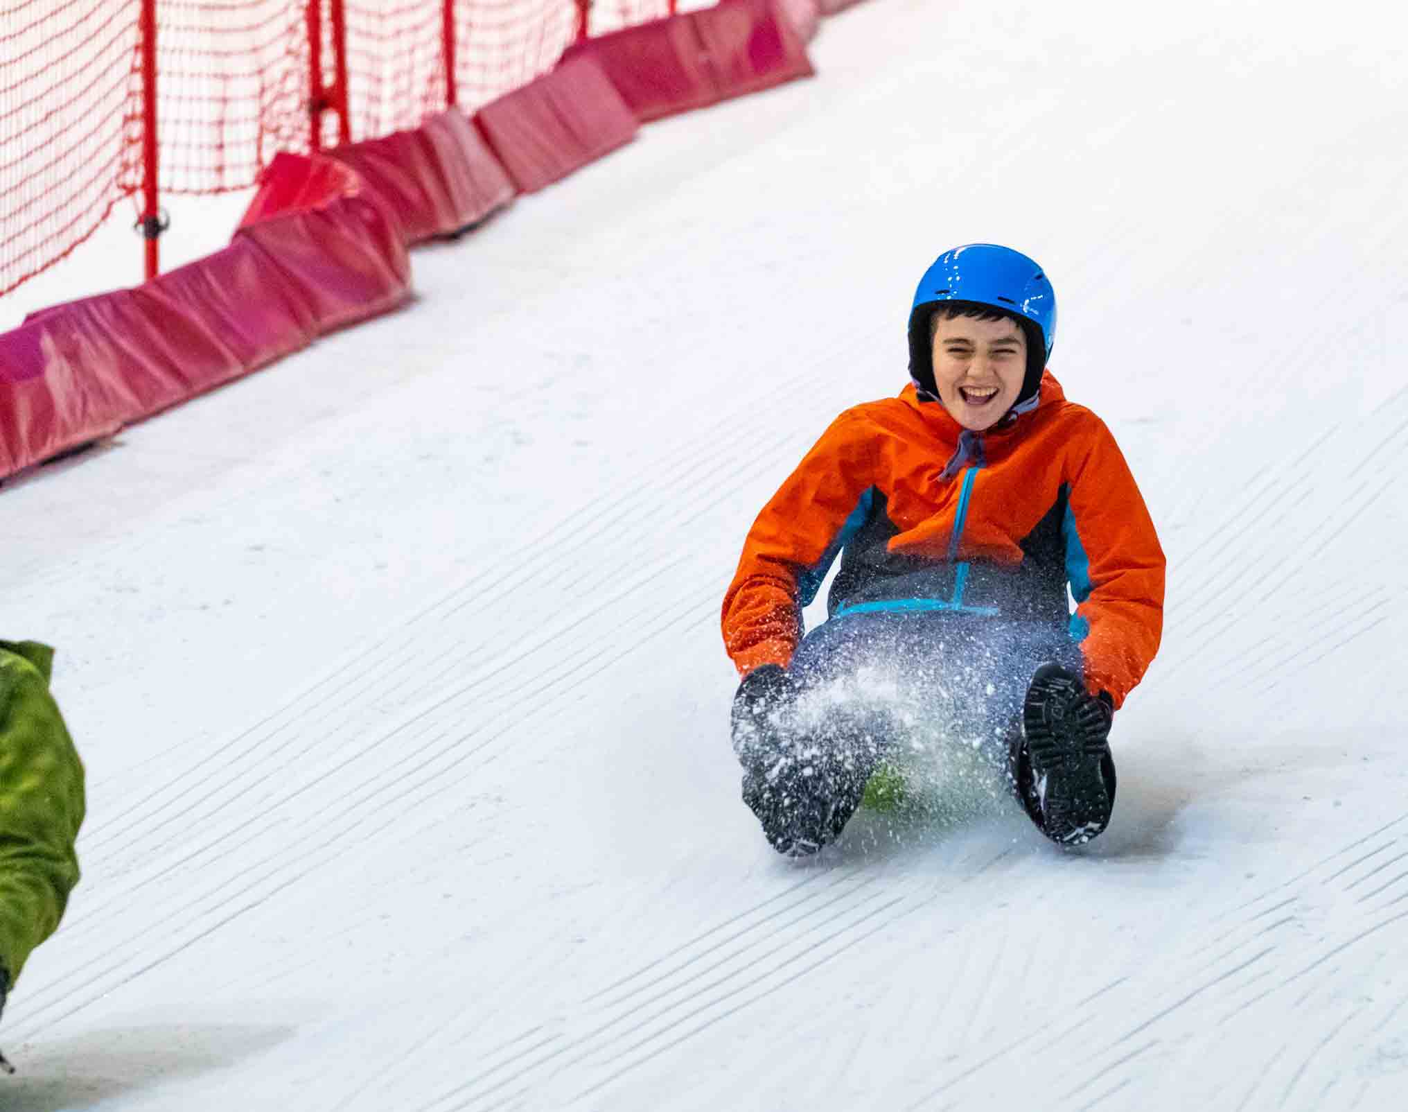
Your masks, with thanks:
<instances>
[{"instance_id":1,"label":"black treaded sole of the boy's boot on the right","mask_svg":"<svg viewBox=\"0 0 1408 1112\"><path fill-rule=\"evenodd\" d=\"M1042 833L1062 846L1090 841L1110 824L1112 801L1100 765L1110 743L1098 716L1079 713L1084 688L1064 668L1039 668L1022 706L1022 733L1042 791Z\"/></svg>"}]
</instances>

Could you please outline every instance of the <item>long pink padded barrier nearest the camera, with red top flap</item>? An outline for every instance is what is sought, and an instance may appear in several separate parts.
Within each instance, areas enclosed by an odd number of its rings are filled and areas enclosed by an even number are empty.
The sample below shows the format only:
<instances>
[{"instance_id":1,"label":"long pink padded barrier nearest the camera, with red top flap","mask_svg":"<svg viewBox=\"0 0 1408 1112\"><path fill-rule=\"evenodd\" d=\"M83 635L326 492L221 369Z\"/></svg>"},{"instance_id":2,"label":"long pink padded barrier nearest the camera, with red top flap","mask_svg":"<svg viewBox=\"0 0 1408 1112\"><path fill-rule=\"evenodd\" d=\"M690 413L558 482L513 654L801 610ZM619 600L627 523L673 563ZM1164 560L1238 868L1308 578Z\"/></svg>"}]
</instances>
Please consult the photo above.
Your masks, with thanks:
<instances>
[{"instance_id":1,"label":"long pink padded barrier nearest the camera, with red top flap","mask_svg":"<svg viewBox=\"0 0 1408 1112\"><path fill-rule=\"evenodd\" d=\"M315 207L246 224L208 258L0 335L0 478L404 300L400 230L349 171L321 162L268 183L252 210Z\"/></svg>"}]
</instances>

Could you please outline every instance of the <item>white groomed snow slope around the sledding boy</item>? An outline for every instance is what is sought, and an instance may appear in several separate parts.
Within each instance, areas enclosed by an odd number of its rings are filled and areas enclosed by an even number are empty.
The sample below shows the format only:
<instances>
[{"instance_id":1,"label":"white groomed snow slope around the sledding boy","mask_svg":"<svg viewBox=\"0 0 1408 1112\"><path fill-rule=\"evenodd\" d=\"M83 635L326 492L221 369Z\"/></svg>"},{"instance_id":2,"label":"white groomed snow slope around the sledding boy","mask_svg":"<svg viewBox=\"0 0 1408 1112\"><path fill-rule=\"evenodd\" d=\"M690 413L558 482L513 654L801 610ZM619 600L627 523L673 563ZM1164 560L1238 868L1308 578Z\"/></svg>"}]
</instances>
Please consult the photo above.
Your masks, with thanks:
<instances>
[{"instance_id":1,"label":"white groomed snow slope around the sledding boy","mask_svg":"<svg viewBox=\"0 0 1408 1112\"><path fill-rule=\"evenodd\" d=\"M0 492L92 805L0 1108L1401 1108L1405 31L873 0ZM1115 822L957 792L791 864L718 603L974 240L1053 276L1170 558Z\"/></svg>"}]
</instances>

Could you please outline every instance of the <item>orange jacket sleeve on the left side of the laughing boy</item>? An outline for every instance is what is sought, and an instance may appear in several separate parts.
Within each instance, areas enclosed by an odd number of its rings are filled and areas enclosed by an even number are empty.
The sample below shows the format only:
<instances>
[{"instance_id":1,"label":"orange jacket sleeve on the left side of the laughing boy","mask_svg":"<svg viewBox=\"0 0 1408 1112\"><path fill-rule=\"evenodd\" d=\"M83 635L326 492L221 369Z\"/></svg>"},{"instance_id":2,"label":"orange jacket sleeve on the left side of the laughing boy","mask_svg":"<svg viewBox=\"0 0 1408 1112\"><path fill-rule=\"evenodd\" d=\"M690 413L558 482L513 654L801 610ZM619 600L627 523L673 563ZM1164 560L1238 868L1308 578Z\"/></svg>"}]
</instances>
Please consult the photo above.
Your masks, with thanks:
<instances>
[{"instance_id":1,"label":"orange jacket sleeve on the left side of the laughing boy","mask_svg":"<svg viewBox=\"0 0 1408 1112\"><path fill-rule=\"evenodd\" d=\"M753 521L724 596L724 648L739 674L791 661L803 606L867 513L870 440L863 419L841 414Z\"/></svg>"}]
</instances>

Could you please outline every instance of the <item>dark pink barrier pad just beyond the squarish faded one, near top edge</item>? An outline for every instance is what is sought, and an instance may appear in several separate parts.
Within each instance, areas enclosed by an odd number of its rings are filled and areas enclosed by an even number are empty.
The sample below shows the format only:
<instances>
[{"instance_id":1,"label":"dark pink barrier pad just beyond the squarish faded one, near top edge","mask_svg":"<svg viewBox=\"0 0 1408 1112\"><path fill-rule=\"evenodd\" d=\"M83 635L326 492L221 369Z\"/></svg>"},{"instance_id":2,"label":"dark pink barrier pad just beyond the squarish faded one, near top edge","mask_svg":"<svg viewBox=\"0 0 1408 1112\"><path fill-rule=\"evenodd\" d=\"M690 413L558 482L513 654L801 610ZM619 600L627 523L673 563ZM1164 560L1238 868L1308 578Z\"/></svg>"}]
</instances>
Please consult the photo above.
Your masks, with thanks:
<instances>
[{"instance_id":1,"label":"dark pink barrier pad just beyond the squarish faded one, near top edge","mask_svg":"<svg viewBox=\"0 0 1408 1112\"><path fill-rule=\"evenodd\" d=\"M728 0L591 38L594 58L642 121L808 78L815 70L781 0Z\"/></svg>"}]
</instances>

